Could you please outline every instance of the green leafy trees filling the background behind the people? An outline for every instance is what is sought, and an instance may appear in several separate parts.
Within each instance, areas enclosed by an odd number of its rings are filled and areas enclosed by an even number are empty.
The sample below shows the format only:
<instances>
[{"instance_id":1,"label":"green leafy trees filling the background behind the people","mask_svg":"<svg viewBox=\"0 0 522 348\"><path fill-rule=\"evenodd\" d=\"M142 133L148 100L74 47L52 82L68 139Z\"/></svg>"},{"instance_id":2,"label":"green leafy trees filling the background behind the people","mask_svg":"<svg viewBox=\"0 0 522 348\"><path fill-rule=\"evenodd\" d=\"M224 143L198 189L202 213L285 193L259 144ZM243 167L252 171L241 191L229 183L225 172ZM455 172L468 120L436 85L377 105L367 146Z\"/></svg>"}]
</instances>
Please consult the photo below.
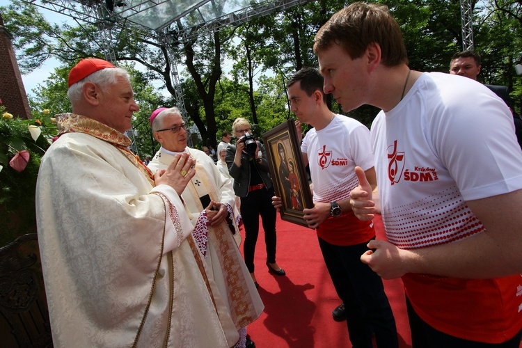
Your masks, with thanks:
<instances>
[{"instance_id":1,"label":"green leafy trees filling the background behind the people","mask_svg":"<svg viewBox=\"0 0 522 348\"><path fill-rule=\"evenodd\" d=\"M100 47L100 28L92 26L53 26L32 6L12 0L10 10L2 10L8 29L15 35L15 47L26 71L38 66L45 57L53 55L70 62L79 56L104 56ZM399 22L404 33L406 49L412 69L448 72L450 57L461 50L461 21L459 0L381 0ZM223 1L214 1L216 10L223 9ZM139 29L121 30L113 25L113 48L117 60L142 63L148 79L161 79L177 100L172 81L173 65L182 73L183 97L191 122L198 127L203 143L214 145L221 132L223 99L223 63L232 61L230 79L248 102L255 124L262 125L260 100L265 90L285 90L287 79L303 66L317 66L313 54L313 38L317 30L333 13L346 5L340 0L312 1L306 6L290 8L267 17L254 19L238 27L224 27L214 33L203 33L197 39L181 40L171 26L167 37L161 33ZM484 58L482 81L506 84L519 100L521 78L516 77L513 65L521 62L521 3L513 0L473 1L475 7L475 48ZM188 17L189 22L196 19ZM117 35L116 35L117 34ZM22 39L23 38L23 39ZM168 38L168 39L167 39ZM228 63L227 63L228 64ZM276 77L275 80L266 77ZM265 81L276 82L278 88L266 88ZM239 93L239 94L238 94ZM264 108L268 106L265 105ZM518 107L518 106L517 106ZM282 109L281 109L282 108ZM281 104L274 104L268 114L287 112ZM332 109L340 111L333 102ZM244 110L240 109L242 113ZM234 113L234 111L230 111ZM236 112L237 113L237 112ZM370 125L377 110L362 107L350 112ZM287 118L290 116L287 116ZM270 123L271 121L267 122Z\"/></svg>"}]
</instances>

